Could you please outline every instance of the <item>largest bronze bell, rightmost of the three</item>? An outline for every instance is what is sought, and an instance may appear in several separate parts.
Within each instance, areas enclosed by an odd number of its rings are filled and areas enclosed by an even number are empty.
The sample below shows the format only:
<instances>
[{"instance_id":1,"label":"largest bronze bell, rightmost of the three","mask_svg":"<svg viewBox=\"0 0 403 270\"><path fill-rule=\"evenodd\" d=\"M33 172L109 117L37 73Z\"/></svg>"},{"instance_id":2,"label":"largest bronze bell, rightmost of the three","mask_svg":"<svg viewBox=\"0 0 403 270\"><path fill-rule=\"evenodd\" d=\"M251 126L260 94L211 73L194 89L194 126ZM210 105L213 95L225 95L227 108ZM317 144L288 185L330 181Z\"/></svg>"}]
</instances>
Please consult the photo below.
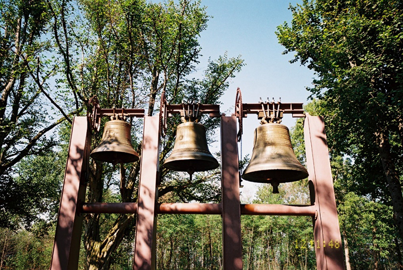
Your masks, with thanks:
<instances>
[{"instance_id":1,"label":"largest bronze bell, rightmost of the three","mask_svg":"<svg viewBox=\"0 0 403 270\"><path fill-rule=\"evenodd\" d=\"M294 154L287 126L265 123L255 129L252 157L243 171L243 179L270 183L273 193L279 193L279 183L297 181L307 176L308 171Z\"/></svg>"}]
</instances>

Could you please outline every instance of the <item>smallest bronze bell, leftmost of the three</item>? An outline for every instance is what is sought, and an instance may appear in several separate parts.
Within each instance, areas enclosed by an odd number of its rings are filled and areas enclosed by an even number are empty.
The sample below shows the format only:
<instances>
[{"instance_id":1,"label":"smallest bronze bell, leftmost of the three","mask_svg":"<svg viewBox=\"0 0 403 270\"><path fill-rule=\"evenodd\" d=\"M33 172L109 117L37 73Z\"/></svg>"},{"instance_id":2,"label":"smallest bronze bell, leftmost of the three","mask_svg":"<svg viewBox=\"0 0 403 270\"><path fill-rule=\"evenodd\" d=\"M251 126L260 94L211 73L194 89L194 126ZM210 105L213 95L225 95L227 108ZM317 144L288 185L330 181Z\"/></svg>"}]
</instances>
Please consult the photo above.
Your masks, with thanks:
<instances>
[{"instance_id":1,"label":"smallest bronze bell, leftmost of the three","mask_svg":"<svg viewBox=\"0 0 403 270\"><path fill-rule=\"evenodd\" d=\"M130 124L122 120L106 122L101 143L91 152L93 159L116 163L139 160L139 154L130 142Z\"/></svg>"}]
</instances>

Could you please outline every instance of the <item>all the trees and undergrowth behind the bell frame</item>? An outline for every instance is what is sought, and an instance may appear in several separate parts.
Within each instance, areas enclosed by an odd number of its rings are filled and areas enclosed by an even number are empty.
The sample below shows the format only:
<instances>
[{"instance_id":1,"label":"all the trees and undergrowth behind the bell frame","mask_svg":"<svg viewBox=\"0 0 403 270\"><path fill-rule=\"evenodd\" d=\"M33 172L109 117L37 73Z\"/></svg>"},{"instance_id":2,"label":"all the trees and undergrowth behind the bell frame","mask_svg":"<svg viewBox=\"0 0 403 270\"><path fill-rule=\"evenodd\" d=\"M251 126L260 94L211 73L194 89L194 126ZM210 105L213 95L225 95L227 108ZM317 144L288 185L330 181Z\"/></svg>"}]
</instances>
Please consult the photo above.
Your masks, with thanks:
<instances>
[{"instance_id":1,"label":"all the trees and undergrowth behind the bell frame","mask_svg":"<svg viewBox=\"0 0 403 270\"><path fill-rule=\"evenodd\" d=\"M285 53L296 53L292 62L317 75L305 110L325 116L342 234L332 245L343 248L347 269L403 269L402 7L304 0L291 7L291 26L277 32ZM162 91L169 103L219 102L244 63L223 52L202 79L191 78L207 24L203 2L186 0L0 0L0 269L49 267L71 122L91 109L92 96L103 108L144 108L147 115L158 113ZM140 153L142 121L128 121ZM217 119L202 122L217 140ZM160 164L179 123L169 122ZM304 164L302 119L291 137ZM139 162L92 160L87 201L136 201L139 169ZM190 183L160 172L161 203L221 200L219 169ZM282 184L280 194L261 185L244 203L308 198L302 180ZM135 224L135 215L86 215L80 269L130 269ZM160 215L157 230L158 269L222 269L219 216ZM242 241L244 269L316 267L311 218L242 216Z\"/></svg>"}]
</instances>

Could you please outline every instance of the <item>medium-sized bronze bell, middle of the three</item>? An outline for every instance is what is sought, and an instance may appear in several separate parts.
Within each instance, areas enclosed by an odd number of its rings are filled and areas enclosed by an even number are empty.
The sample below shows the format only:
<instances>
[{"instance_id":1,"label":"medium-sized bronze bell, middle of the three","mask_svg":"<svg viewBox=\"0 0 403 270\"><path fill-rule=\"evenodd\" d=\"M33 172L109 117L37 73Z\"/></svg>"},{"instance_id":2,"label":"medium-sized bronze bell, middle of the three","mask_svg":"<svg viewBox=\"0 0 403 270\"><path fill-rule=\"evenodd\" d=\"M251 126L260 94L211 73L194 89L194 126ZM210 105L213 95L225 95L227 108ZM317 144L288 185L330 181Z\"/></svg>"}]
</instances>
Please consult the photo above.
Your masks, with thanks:
<instances>
[{"instance_id":1,"label":"medium-sized bronze bell, middle of the three","mask_svg":"<svg viewBox=\"0 0 403 270\"><path fill-rule=\"evenodd\" d=\"M176 129L175 145L164 167L173 171L208 171L218 168L218 162L207 146L206 128L196 122L185 122Z\"/></svg>"}]
</instances>

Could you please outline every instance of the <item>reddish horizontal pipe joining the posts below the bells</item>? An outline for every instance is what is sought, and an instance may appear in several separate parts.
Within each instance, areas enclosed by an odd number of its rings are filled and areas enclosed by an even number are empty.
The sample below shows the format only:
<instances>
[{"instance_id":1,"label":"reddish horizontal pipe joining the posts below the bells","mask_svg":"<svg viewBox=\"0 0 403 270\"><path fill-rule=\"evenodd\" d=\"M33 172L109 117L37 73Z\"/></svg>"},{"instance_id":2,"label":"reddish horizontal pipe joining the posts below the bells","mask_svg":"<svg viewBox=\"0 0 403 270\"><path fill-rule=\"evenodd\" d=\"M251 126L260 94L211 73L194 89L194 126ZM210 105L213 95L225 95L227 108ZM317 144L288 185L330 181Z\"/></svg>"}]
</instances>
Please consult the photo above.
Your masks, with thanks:
<instances>
[{"instance_id":1,"label":"reddish horizontal pipe joining the posts below the bells","mask_svg":"<svg viewBox=\"0 0 403 270\"><path fill-rule=\"evenodd\" d=\"M221 204L158 204L157 214L221 215ZM83 204L82 213L136 214L137 203ZM296 205L241 205L241 215L316 216L315 206Z\"/></svg>"}]
</instances>

